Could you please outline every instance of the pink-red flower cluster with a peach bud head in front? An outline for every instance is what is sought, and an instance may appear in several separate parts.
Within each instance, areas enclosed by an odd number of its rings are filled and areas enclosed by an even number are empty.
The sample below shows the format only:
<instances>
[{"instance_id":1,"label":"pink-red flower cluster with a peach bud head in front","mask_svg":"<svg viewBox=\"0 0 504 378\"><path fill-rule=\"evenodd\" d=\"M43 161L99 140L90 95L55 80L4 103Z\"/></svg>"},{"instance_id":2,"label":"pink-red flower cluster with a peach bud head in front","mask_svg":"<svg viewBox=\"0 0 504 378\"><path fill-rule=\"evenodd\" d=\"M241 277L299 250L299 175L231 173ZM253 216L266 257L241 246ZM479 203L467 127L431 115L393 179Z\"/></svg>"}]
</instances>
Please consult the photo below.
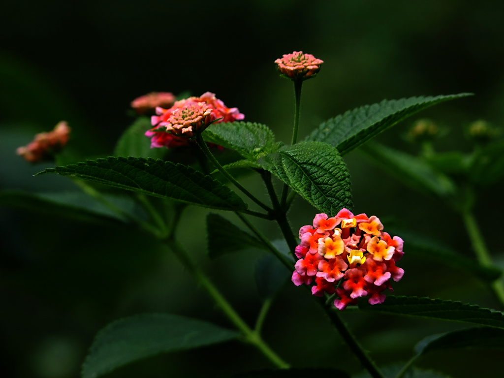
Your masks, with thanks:
<instances>
[{"instance_id":1,"label":"pink-red flower cluster with a peach bud head in front","mask_svg":"<svg viewBox=\"0 0 504 378\"><path fill-rule=\"evenodd\" d=\"M151 148L187 146L190 144L187 137L203 131L210 123L233 122L244 117L238 108L228 108L215 94L206 92L200 97L175 101L169 109L156 107L156 115L151 117L154 127L145 135L151 138Z\"/></svg>"}]
</instances>

